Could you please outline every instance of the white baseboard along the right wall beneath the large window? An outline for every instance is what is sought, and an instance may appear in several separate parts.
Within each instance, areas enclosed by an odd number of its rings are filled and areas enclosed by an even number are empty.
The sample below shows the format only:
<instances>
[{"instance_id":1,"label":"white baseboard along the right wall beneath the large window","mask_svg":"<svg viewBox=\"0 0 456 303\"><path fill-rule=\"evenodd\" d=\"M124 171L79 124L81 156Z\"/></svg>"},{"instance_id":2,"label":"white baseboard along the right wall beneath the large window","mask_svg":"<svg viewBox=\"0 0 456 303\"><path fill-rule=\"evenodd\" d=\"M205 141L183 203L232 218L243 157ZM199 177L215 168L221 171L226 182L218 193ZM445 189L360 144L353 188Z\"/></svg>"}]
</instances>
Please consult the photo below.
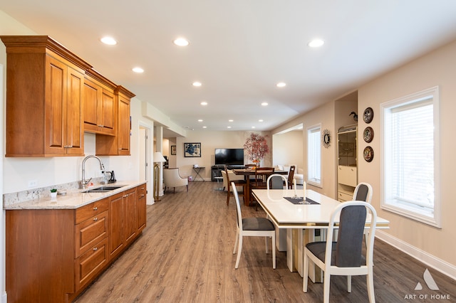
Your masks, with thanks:
<instances>
[{"instance_id":1,"label":"white baseboard along the right wall beneath the large window","mask_svg":"<svg viewBox=\"0 0 456 303\"><path fill-rule=\"evenodd\" d=\"M430 255L430 253L428 252L420 250L419 248L415 248L414 246L405 243L403 240L395 238L382 230L375 230L375 238L383 240L385 243L388 243L389 245L397 248L398 250L405 252L407 255L410 255L411 257L414 257L420 262L425 263L425 265L429 265L433 269L442 272L442 274L447 275L453 280L456 280L455 265L452 265L444 260L440 260L434 255Z\"/></svg>"}]
</instances>

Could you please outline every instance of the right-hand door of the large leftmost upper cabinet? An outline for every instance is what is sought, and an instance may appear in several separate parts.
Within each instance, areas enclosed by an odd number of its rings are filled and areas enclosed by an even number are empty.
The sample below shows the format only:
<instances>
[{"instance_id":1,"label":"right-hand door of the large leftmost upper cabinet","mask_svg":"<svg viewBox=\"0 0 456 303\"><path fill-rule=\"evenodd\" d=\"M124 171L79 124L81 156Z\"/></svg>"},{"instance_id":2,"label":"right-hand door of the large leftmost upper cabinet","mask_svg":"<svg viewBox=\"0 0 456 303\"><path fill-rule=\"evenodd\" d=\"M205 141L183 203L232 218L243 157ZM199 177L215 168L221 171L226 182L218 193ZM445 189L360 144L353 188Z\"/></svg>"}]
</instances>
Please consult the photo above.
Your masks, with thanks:
<instances>
[{"instance_id":1,"label":"right-hand door of the large leftmost upper cabinet","mask_svg":"<svg viewBox=\"0 0 456 303\"><path fill-rule=\"evenodd\" d=\"M83 87L84 75L73 68L68 68L68 97L66 102L67 154L84 154Z\"/></svg>"}]
</instances>

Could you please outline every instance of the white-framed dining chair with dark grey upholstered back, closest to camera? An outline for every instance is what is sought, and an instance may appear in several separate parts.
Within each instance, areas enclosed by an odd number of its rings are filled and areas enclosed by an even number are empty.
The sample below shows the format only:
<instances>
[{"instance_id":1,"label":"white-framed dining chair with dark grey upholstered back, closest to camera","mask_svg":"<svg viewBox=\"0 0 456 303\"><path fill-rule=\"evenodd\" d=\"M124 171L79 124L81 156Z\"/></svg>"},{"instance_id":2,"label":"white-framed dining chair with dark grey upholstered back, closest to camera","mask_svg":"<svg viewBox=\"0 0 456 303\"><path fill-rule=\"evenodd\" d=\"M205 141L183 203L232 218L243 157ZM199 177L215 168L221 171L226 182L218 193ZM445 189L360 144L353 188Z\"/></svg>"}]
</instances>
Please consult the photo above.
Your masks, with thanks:
<instances>
[{"instance_id":1,"label":"white-framed dining chair with dark grey upholstered back, closest to camera","mask_svg":"<svg viewBox=\"0 0 456 303\"><path fill-rule=\"evenodd\" d=\"M371 213L366 256L362 254L363 232L366 216ZM340 215L340 216L338 216ZM338 238L333 242L333 232L338 220ZM304 248L303 291L307 292L309 262L324 271L323 302L329 302L331 275L347 276L347 291L351 292L351 276L366 275L369 302L375 302L373 289L373 242L377 213L371 204L361 201L341 203L331 213L325 242L306 244Z\"/></svg>"}]
</instances>

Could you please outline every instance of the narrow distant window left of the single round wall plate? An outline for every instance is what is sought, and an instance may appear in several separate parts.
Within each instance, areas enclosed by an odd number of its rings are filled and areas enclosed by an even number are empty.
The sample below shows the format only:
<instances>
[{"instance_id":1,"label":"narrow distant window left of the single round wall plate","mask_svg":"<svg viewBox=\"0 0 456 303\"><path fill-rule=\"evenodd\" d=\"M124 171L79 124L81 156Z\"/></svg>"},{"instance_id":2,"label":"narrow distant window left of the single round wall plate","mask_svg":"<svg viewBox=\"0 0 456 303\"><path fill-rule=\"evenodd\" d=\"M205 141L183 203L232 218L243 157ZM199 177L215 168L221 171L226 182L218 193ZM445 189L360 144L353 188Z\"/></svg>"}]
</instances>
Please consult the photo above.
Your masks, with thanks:
<instances>
[{"instance_id":1,"label":"narrow distant window left of the single round wall plate","mask_svg":"<svg viewBox=\"0 0 456 303\"><path fill-rule=\"evenodd\" d=\"M321 125L307 129L307 179L309 184L323 186L321 182Z\"/></svg>"}]
</instances>

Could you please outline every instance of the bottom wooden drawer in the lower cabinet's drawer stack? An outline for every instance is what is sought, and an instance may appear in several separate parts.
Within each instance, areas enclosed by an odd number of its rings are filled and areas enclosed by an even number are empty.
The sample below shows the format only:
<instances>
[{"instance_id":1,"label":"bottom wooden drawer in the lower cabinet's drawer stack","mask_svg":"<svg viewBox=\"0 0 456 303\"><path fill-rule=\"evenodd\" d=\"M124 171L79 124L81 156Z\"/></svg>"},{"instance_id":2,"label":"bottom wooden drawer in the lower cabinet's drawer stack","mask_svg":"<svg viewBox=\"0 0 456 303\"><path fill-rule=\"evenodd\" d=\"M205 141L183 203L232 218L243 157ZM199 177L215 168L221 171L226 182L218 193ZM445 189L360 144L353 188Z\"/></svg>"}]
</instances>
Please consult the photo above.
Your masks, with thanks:
<instances>
[{"instance_id":1,"label":"bottom wooden drawer in the lower cabinet's drawer stack","mask_svg":"<svg viewBox=\"0 0 456 303\"><path fill-rule=\"evenodd\" d=\"M74 261L76 291L96 277L108 262L108 239L104 238Z\"/></svg>"}]
</instances>

